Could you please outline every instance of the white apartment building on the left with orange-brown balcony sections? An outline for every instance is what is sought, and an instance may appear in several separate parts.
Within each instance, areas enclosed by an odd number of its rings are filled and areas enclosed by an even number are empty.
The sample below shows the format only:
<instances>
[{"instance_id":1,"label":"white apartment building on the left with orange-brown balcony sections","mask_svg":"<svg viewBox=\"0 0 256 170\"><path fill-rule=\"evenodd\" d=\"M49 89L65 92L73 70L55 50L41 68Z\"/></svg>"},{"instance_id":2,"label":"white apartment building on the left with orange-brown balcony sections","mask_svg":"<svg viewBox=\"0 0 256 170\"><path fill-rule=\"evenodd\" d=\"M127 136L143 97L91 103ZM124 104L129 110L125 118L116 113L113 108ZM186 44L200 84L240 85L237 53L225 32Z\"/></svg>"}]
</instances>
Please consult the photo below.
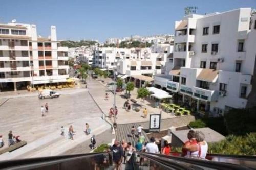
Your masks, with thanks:
<instances>
[{"instance_id":1,"label":"white apartment building on the left with orange-brown balcony sections","mask_svg":"<svg viewBox=\"0 0 256 170\"><path fill-rule=\"evenodd\" d=\"M37 36L36 25L0 24L0 90L66 82L68 48L58 47L56 27L51 36Z\"/></svg>"}]
</instances>

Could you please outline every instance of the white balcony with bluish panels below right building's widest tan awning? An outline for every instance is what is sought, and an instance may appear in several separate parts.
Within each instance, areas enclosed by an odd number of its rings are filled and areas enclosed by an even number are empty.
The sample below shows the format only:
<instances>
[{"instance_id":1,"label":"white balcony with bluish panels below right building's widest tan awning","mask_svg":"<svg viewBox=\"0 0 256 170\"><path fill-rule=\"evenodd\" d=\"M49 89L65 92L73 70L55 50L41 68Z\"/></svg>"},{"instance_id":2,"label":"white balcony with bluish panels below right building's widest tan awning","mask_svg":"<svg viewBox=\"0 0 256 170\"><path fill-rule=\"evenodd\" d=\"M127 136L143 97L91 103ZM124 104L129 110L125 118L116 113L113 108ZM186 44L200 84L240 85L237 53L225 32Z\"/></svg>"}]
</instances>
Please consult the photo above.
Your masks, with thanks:
<instances>
[{"instance_id":1,"label":"white balcony with bluish panels below right building's widest tan awning","mask_svg":"<svg viewBox=\"0 0 256 170\"><path fill-rule=\"evenodd\" d=\"M200 87L193 87L193 97L204 101L215 101L218 99L218 94L215 90L206 90Z\"/></svg>"}]
</instances>

